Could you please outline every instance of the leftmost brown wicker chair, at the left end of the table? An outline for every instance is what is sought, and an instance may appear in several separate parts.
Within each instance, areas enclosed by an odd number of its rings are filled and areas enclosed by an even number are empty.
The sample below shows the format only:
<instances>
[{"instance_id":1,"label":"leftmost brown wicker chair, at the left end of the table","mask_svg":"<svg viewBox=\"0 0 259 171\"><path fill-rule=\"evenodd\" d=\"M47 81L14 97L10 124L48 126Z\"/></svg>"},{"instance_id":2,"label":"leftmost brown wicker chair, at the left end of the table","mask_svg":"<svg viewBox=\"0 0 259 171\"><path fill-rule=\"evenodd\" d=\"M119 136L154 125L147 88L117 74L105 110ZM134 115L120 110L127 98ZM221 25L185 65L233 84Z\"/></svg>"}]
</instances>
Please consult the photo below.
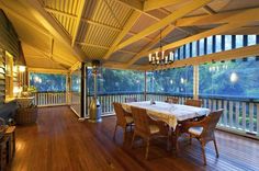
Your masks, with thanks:
<instances>
[{"instance_id":1,"label":"leftmost brown wicker chair, at the left end of the table","mask_svg":"<svg viewBox=\"0 0 259 171\"><path fill-rule=\"evenodd\" d=\"M125 110L123 110L122 104L117 102L113 102L114 111L116 114L116 125L115 125L115 130L113 134L113 139L115 140L115 135L117 130L117 126L121 126L123 128L123 141L126 139L126 129L127 126L133 126L133 117L131 113L127 113Z\"/></svg>"}]
</instances>

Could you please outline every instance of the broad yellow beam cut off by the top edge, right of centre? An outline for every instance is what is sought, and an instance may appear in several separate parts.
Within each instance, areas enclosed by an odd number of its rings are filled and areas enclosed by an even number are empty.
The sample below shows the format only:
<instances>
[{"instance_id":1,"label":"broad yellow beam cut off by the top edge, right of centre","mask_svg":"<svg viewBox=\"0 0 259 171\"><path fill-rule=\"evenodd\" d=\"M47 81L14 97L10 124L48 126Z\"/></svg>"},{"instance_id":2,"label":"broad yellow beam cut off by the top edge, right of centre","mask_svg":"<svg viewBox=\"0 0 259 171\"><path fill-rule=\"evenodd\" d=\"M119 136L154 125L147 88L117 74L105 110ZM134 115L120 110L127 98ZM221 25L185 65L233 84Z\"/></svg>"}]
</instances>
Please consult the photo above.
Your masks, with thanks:
<instances>
[{"instance_id":1,"label":"broad yellow beam cut off by the top edge, right of centre","mask_svg":"<svg viewBox=\"0 0 259 171\"><path fill-rule=\"evenodd\" d=\"M143 11L150 11L155 9L165 8L167 5L173 5L177 3L185 2L187 0L146 0L144 2Z\"/></svg>"}]
</instances>

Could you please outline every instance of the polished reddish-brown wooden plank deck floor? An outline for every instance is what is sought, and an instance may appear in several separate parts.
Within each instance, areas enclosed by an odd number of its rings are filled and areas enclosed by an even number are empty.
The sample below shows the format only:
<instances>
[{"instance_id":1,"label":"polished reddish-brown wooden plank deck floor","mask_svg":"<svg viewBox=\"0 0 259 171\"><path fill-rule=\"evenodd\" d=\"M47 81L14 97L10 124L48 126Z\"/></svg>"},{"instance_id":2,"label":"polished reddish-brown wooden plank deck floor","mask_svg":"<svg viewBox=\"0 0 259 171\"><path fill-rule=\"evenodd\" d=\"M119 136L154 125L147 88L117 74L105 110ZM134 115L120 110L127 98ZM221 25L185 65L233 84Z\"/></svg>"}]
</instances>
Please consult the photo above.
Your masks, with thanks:
<instances>
[{"instance_id":1,"label":"polished reddish-brown wooden plank deck floor","mask_svg":"<svg viewBox=\"0 0 259 171\"><path fill-rule=\"evenodd\" d=\"M166 150L166 140L151 141L150 160L144 160L145 148L136 140L130 148L131 135L122 144L122 132L112 140L115 117L100 124L79 123L69 107L40 110L37 125L16 129L16 153L10 167L13 171L108 171L108 170L259 170L259 141L217 132L219 158L213 144L206 146L204 167L196 140L188 145L180 139L181 153Z\"/></svg>"}]
</instances>

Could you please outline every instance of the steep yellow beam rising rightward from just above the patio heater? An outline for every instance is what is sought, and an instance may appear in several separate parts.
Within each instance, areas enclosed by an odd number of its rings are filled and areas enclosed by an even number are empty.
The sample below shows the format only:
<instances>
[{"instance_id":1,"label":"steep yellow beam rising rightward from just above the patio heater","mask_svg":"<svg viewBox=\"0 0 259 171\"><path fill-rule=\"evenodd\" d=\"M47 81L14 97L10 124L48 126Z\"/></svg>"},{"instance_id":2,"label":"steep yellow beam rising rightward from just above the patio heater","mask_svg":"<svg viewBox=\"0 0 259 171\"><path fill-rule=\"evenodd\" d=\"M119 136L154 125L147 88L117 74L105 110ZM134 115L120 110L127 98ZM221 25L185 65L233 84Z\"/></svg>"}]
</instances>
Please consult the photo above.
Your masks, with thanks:
<instances>
[{"instance_id":1,"label":"steep yellow beam rising rightward from just above the patio heater","mask_svg":"<svg viewBox=\"0 0 259 171\"><path fill-rule=\"evenodd\" d=\"M103 57L104 59L109 59L109 57L111 56L111 54L114 53L117 44L123 39L123 37L130 32L130 30L132 29L132 26L136 23L136 21L138 20L138 18L142 15L140 12L138 11L134 11L131 15L131 18L128 19L127 23L124 25L123 31L117 35L116 39L113 42L111 48L108 50L108 53L105 54L105 56Z\"/></svg>"}]
</instances>

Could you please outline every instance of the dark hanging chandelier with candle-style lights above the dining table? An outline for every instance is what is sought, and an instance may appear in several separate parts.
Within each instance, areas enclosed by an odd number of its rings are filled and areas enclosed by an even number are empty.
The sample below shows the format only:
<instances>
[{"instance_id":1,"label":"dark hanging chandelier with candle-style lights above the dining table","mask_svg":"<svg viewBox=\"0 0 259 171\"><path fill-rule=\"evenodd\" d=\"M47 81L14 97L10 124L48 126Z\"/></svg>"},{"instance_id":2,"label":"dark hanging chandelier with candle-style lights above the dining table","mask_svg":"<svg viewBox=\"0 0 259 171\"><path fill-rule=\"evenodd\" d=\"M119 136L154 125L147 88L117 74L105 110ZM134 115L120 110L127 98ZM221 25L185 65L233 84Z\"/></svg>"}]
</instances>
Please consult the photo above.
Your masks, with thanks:
<instances>
[{"instance_id":1,"label":"dark hanging chandelier with candle-style lights above the dining table","mask_svg":"<svg viewBox=\"0 0 259 171\"><path fill-rule=\"evenodd\" d=\"M170 52L167 54L165 50L162 50L162 42L161 42L161 30L160 30L160 46L159 50L155 54L149 54L148 61L153 66L162 66L173 62L173 53Z\"/></svg>"}]
</instances>

